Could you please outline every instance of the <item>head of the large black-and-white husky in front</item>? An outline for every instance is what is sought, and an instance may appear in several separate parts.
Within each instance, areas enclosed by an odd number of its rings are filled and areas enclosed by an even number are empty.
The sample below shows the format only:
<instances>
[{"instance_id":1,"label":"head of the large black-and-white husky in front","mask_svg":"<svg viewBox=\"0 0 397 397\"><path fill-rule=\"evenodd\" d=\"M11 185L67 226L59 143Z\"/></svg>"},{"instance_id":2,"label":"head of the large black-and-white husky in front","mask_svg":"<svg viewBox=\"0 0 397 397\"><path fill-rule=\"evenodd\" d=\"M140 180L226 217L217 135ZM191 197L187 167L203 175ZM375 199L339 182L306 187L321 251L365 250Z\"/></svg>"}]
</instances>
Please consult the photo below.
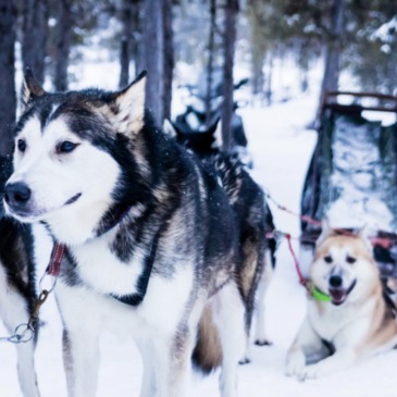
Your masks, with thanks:
<instances>
[{"instance_id":1,"label":"head of the large black-and-white husky in front","mask_svg":"<svg viewBox=\"0 0 397 397\"><path fill-rule=\"evenodd\" d=\"M95 236L116 206L146 199L144 160L132 154L145 129L145 76L117 92L48 94L27 71L5 211L73 244ZM134 188L123 190L125 181Z\"/></svg>"}]
</instances>

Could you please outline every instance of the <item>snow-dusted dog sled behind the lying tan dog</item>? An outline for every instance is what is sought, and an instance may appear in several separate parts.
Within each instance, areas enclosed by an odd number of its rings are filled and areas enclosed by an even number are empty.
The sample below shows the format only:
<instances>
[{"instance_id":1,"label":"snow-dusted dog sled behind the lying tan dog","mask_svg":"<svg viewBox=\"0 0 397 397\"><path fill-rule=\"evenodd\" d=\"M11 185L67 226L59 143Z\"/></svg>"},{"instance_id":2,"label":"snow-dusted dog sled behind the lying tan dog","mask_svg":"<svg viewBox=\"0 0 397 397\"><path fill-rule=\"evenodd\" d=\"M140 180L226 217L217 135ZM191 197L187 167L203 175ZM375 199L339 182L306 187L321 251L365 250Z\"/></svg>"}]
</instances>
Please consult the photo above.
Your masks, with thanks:
<instances>
[{"instance_id":1,"label":"snow-dusted dog sled behind the lying tan dog","mask_svg":"<svg viewBox=\"0 0 397 397\"><path fill-rule=\"evenodd\" d=\"M367 227L382 277L397 280L396 116L397 97L327 92L301 196L301 257L313 251L318 221Z\"/></svg>"}]
</instances>

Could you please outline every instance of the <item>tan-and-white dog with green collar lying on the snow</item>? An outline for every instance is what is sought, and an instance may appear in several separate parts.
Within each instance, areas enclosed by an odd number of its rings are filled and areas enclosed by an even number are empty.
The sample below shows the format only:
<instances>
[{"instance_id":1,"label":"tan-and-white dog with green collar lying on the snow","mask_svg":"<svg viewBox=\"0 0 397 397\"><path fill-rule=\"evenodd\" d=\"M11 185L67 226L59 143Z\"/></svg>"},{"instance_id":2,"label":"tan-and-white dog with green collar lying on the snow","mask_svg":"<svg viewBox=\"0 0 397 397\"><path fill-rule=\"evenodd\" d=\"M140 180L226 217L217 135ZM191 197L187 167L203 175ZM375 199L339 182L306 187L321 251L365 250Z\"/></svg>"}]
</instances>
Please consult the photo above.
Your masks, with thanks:
<instances>
[{"instance_id":1,"label":"tan-and-white dog with green collar lying on the snow","mask_svg":"<svg viewBox=\"0 0 397 397\"><path fill-rule=\"evenodd\" d=\"M362 233L346 236L325 226L310 281L313 294L287 355L287 375L325 376L397 346L395 308L383 297L372 247Z\"/></svg>"}]
</instances>

